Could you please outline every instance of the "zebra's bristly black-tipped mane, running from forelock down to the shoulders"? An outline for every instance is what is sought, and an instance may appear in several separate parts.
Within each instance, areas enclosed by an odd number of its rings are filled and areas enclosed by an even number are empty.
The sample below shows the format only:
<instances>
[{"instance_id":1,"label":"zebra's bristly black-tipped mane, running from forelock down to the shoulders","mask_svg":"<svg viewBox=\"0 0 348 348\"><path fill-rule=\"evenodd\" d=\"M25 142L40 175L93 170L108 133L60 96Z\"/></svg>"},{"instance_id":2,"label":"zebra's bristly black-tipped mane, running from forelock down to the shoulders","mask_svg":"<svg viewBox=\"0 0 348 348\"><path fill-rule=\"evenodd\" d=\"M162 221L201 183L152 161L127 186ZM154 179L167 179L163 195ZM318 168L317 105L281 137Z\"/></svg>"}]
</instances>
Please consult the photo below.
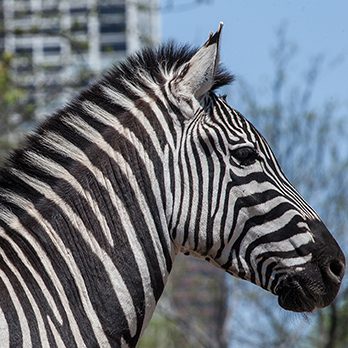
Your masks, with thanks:
<instances>
[{"instance_id":1,"label":"zebra's bristly black-tipped mane, running from forelock down to the shoulders","mask_svg":"<svg viewBox=\"0 0 348 348\"><path fill-rule=\"evenodd\" d=\"M40 149L42 146L40 144L42 134L47 130L61 129L60 123L62 118L68 117L69 113L82 112L80 104L84 100L99 100L101 85L113 87L121 94L132 98L133 92L129 89L129 85L138 86L146 91L149 89L149 86L144 83L144 79L147 79L150 80L151 84L160 86L167 78L174 76L176 71L188 62L196 52L197 48L195 47L169 42L158 48L145 48L138 53L130 55L123 62L106 71L101 79L97 79L94 84L79 93L65 107L58 109L43 123L39 124L36 130L25 138L21 146L10 154L5 164L0 168L0 188L10 189L13 187L12 180L14 178L8 170L13 167L21 169L26 162L26 152L28 150L37 151L37 149ZM215 74L212 90L231 83L233 79L232 74L222 66L219 66ZM103 104L103 107L108 110L105 101L103 101ZM113 105L112 110L109 109L109 112L112 113L112 111L115 114L122 113L124 110Z\"/></svg>"}]
</instances>

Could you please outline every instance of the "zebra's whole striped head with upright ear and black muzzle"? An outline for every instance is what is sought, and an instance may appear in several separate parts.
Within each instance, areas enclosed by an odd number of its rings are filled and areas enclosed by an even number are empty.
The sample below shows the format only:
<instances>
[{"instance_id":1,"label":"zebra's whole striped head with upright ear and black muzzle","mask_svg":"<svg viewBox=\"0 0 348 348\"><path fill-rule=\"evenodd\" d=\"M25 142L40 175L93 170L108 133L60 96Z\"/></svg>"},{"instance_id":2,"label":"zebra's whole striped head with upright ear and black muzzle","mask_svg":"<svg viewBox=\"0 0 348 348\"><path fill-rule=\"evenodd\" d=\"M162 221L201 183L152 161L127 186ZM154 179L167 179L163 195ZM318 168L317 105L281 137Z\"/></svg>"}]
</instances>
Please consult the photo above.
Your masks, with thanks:
<instances>
[{"instance_id":1,"label":"zebra's whole striped head with upright ear and black muzzle","mask_svg":"<svg viewBox=\"0 0 348 348\"><path fill-rule=\"evenodd\" d=\"M219 67L220 32L166 85L183 115L172 238L184 253L278 295L285 309L324 307L338 292L344 255L262 135L213 92L229 79Z\"/></svg>"}]
</instances>

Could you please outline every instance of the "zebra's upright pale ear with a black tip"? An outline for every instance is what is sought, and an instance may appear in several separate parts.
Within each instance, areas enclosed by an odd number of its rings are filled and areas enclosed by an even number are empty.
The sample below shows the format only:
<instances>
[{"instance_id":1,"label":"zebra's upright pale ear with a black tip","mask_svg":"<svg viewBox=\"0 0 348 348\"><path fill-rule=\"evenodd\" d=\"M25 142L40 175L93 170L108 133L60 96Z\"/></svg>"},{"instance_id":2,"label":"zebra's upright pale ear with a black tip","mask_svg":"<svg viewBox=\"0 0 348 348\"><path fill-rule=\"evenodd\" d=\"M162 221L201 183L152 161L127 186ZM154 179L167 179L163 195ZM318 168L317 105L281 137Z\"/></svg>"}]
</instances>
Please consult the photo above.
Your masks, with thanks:
<instances>
[{"instance_id":1,"label":"zebra's upright pale ear with a black tip","mask_svg":"<svg viewBox=\"0 0 348 348\"><path fill-rule=\"evenodd\" d=\"M223 23L210 34L206 43L181 68L175 78L179 94L194 95L200 99L214 84L214 76L219 64L219 41Z\"/></svg>"}]
</instances>

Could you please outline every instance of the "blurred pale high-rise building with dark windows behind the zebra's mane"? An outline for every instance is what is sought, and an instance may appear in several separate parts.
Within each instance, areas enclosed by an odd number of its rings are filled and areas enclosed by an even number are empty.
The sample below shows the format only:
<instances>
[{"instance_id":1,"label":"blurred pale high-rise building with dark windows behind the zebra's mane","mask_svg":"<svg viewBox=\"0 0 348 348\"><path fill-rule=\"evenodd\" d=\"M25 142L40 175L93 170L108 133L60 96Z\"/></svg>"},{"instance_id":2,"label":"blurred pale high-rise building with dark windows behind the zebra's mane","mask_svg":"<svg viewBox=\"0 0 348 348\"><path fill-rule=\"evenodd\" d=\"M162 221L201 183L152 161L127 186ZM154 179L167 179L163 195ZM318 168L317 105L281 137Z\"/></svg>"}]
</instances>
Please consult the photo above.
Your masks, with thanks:
<instances>
[{"instance_id":1,"label":"blurred pale high-rise building with dark windows behind the zebra's mane","mask_svg":"<svg viewBox=\"0 0 348 348\"><path fill-rule=\"evenodd\" d=\"M159 42L158 0L0 0L0 52L47 113L91 74ZM85 77L85 78L84 78Z\"/></svg>"}]
</instances>

